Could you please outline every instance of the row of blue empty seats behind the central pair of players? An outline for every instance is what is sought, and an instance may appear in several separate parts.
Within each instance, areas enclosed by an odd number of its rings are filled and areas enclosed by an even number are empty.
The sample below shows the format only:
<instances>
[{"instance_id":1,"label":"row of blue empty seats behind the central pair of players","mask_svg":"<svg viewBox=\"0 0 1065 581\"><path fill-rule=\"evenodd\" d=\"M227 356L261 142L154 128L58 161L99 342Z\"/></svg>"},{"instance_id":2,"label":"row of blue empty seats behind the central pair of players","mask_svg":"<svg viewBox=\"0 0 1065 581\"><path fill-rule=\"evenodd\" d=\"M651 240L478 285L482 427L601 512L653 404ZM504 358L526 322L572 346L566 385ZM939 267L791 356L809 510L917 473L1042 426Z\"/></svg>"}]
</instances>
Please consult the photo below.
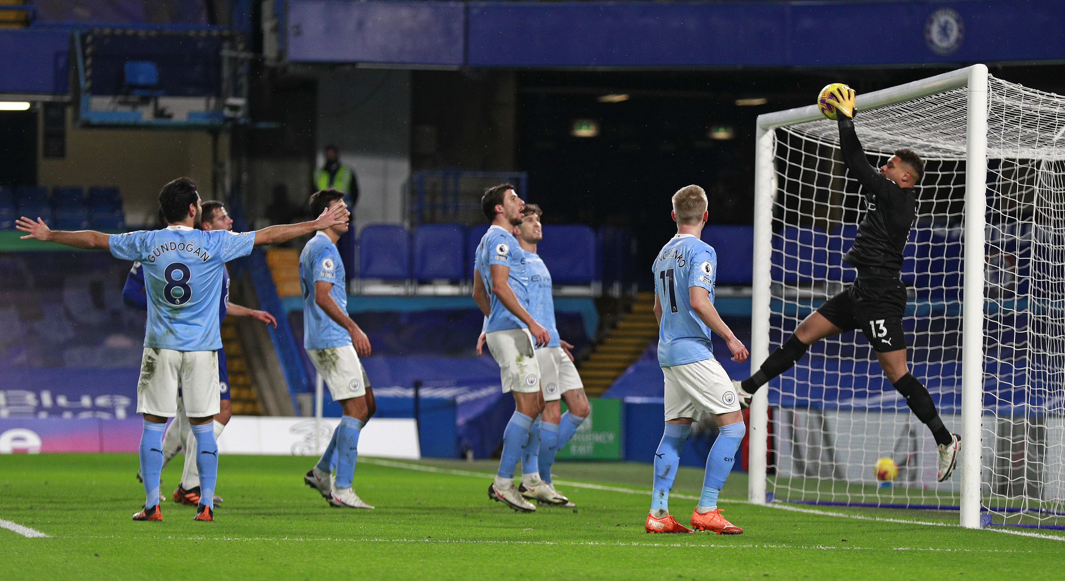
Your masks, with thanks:
<instances>
[{"instance_id":1,"label":"row of blue empty seats behind the central pair of players","mask_svg":"<svg viewBox=\"0 0 1065 581\"><path fill-rule=\"evenodd\" d=\"M359 239L359 276L399 280L470 280L482 224L466 229L461 224L425 224L408 233L395 224L371 224ZM551 269L557 285L589 285L602 280L601 240L588 226L551 224L537 254ZM617 232L610 232L615 241Z\"/></svg>"}]
</instances>

